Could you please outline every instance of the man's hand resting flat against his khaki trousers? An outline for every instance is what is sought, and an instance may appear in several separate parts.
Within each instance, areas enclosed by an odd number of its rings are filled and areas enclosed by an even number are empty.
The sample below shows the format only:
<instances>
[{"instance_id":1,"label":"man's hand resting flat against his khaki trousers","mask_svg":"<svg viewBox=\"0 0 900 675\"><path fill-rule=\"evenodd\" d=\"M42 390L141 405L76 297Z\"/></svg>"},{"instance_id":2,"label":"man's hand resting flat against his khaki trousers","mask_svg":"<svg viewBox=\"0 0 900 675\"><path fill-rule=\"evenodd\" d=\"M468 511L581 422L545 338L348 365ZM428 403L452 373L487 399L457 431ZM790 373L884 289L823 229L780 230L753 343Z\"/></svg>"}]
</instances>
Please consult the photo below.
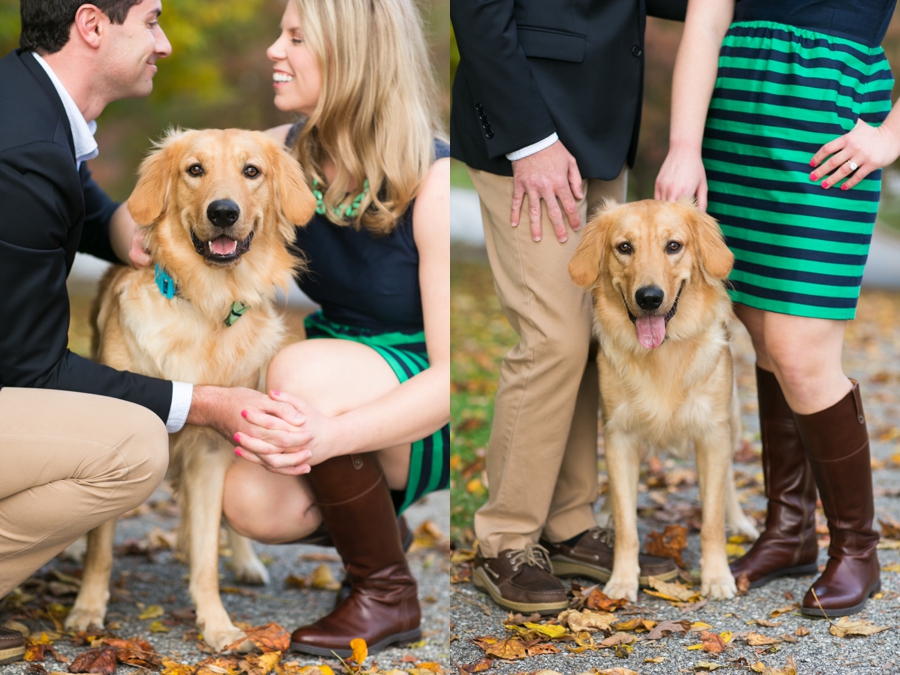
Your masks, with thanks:
<instances>
[{"instance_id":1,"label":"man's hand resting flat against his khaki trousers","mask_svg":"<svg viewBox=\"0 0 900 675\"><path fill-rule=\"evenodd\" d=\"M569 226L577 232L581 227L576 200L584 199L581 189L581 172L578 163L560 141L553 145L513 161L513 202L510 224L518 226L522 214L522 202L528 195L528 215L531 220L531 238L540 241L541 200L547 204L547 215L560 242L568 239L563 211ZM558 200L558 201L557 201Z\"/></svg>"}]
</instances>

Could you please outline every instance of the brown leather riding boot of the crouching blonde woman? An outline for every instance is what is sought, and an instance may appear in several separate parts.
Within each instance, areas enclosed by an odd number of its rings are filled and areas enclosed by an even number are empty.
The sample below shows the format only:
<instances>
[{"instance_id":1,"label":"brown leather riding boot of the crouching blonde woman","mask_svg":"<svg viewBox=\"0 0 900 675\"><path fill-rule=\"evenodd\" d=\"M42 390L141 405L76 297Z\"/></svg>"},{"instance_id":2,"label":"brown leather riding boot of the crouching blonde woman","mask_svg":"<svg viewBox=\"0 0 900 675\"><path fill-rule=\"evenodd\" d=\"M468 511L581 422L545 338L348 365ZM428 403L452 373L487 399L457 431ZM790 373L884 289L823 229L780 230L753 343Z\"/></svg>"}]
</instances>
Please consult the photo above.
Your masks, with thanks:
<instances>
[{"instance_id":1,"label":"brown leather riding boot of the crouching blonde woman","mask_svg":"<svg viewBox=\"0 0 900 675\"><path fill-rule=\"evenodd\" d=\"M354 638L364 639L369 653L421 639L416 580L378 457L335 457L314 466L307 478L351 589L330 614L295 630L291 649L346 658Z\"/></svg>"}]
</instances>

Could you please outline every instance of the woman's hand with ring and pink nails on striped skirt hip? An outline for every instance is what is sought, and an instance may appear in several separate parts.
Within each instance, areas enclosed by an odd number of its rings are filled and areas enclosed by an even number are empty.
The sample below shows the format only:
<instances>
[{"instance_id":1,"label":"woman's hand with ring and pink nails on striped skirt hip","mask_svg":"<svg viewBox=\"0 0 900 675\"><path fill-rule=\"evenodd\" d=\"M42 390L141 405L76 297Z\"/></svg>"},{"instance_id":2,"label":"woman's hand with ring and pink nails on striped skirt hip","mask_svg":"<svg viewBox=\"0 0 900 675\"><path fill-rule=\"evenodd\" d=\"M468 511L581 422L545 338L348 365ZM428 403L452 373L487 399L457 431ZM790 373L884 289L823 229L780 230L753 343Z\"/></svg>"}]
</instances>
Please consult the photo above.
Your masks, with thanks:
<instances>
[{"instance_id":1,"label":"woman's hand with ring and pink nails on striped skirt hip","mask_svg":"<svg viewBox=\"0 0 900 675\"><path fill-rule=\"evenodd\" d=\"M898 156L900 137L892 127L887 124L873 127L860 119L851 131L826 143L813 155L809 179L821 180L827 190L850 176L841 185L842 190L849 190L873 171L893 163Z\"/></svg>"}]
</instances>

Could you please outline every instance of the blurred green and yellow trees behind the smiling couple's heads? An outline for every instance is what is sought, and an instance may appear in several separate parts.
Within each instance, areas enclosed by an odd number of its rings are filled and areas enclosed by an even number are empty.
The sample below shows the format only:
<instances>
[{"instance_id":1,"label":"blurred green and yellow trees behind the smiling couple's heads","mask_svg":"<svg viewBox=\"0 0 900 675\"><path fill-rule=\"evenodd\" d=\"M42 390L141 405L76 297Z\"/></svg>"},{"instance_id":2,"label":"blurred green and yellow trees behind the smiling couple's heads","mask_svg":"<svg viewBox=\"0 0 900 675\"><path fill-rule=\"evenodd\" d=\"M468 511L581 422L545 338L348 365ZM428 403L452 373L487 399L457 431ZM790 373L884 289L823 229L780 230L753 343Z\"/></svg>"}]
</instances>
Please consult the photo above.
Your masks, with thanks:
<instances>
[{"instance_id":1,"label":"blurred green and yellow trees behind the smiling couple's heads","mask_svg":"<svg viewBox=\"0 0 900 675\"><path fill-rule=\"evenodd\" d=\"M450 0L417 4L444 92L446 126ZM284 7L285 0L163 0L160 24L172 56L160 61L153 93L112 103L97 120L100 156L91 169L111 196L128 197L150 143L169 127L267 129L293 121L272 105L272 65L266 58ZM18 0L0 0L0 55L18 46L19 25Z\"/></svg>"}]
</instances>

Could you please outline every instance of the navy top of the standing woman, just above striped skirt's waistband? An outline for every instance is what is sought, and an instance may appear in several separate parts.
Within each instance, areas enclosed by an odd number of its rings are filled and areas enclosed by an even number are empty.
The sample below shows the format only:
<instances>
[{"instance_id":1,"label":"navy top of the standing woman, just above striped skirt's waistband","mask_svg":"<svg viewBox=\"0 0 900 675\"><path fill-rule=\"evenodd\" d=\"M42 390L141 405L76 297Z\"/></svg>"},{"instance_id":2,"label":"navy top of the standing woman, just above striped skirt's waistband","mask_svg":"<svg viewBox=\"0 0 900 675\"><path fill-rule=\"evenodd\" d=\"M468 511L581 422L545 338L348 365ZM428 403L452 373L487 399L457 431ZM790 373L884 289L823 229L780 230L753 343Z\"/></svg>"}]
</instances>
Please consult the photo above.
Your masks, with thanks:
<instances>
[{"instance_id":1,"label":"navy top of the standing woman, just above striped skirt's waistband","mask_svg":"<svg viewBox=\"0 0 900 675\"><path fill-rule=\"evenodd\" d=\"M738 0L734 21L773 21L878 47L896 0Z\"/></svg>"}]
</instances>

